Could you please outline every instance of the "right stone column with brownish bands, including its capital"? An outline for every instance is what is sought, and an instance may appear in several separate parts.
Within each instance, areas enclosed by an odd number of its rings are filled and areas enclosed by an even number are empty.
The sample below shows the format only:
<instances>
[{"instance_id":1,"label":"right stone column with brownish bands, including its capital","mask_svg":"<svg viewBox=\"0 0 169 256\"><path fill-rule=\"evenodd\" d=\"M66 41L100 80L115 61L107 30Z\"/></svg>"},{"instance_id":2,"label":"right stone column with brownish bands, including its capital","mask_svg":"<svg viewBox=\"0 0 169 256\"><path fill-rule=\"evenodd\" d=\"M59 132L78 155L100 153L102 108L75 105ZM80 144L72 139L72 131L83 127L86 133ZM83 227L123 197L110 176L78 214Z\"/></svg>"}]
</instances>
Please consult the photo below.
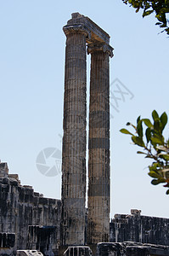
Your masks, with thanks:
<instances>
[{"instance_id":1,"label":"right stone column with brownish bands, including its capital","mask_svg":"<svg viewBox=\"0 0 169 256\"><path fill-rule=\"evenodd\" d=\"M87 243L110 239L110 64L112 48L89 44L91 54Z\"/></svg>"}]
</instances>

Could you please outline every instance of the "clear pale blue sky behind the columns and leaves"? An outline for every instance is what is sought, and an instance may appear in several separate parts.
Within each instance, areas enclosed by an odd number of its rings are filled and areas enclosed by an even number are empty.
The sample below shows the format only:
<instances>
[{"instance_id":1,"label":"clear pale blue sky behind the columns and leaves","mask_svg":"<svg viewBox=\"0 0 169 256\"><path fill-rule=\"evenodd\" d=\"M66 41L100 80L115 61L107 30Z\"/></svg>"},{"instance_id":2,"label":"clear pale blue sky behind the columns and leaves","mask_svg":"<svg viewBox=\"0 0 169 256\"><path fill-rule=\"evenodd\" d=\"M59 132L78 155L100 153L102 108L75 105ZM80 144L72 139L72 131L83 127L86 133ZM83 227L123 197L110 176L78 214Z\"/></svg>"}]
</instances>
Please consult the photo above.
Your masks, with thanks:
<instances>
[{"instance_id":1,"label":"clear pale blue sky behind the columns and leaves","mask_svg":"<svg viewBox=\"0 0 169 256\"><path fill-rule=\"evenodd\" d=\"M111 217L115 212L129 213L131 208L138 208L144 215L169 218L166 189L150 184L145 168L149 161L136 154L138 148L130 144L130 137L119 132L139 114L150 117L153 109L169 113L169 39L164 33L158 34L160 28L153 17L143 20L121 0L0 0L0 159L8 162L10 173L19 174L22 184L60 198L60 175L42 175L36 161L44 148L61 150L62 27L73 12L87 15L110 34L115 49L110 81L119 79L134 95L130 99L127 91L117 108L113 99L116 83L110 87ZM87 87L89 62L87 56Z\"/></svg>"}]
</instances>

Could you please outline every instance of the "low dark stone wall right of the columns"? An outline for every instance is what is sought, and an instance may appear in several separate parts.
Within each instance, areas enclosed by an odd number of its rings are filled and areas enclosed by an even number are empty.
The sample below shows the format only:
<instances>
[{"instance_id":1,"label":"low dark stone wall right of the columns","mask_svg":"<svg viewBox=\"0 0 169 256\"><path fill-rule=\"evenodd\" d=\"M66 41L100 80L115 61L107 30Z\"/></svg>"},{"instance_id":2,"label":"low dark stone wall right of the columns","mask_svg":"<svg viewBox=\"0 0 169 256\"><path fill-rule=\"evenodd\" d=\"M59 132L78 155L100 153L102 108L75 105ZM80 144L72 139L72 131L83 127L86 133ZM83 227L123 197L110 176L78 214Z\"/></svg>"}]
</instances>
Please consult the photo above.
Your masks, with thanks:
<instances>
[{"instance_id":1,"label":"low dark stone wall right of the columns","mask_svg":"<svg viewBox=\"0 0 169 256\"><path fill-rule=\"evenodd\" d=\"M169 245L169 218L141 216L131 210L130 215L115 214L110 222L110 241L137 241Z\"/></svg>"}]
</instances>

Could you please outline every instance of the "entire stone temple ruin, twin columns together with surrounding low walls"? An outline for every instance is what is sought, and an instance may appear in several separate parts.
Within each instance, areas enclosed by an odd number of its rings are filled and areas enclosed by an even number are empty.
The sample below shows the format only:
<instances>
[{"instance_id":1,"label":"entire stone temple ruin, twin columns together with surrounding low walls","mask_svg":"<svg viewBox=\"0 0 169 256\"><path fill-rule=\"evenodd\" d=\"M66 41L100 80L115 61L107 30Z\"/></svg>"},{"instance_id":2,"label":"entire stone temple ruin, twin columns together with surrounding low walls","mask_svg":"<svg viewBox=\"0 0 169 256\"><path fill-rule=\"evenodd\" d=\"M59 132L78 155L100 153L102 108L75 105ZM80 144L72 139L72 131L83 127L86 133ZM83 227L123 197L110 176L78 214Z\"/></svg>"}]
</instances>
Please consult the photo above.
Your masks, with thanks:
<instances>
[{"instance_id":1,"label":"entire stone temple ruin, twin columns together with surrounding low walls","mask_svg":"<svg viewBox=\"0 0 169 256\"><path fill-rule=\"evenodd\" d=\"M64 26L62 198L22 185L0 162L0 255L169 255L169 218L115 214L110 221L110 36L86 16ZM88 190L87 62L91 55Z\"/></svg>"}]
</instances>

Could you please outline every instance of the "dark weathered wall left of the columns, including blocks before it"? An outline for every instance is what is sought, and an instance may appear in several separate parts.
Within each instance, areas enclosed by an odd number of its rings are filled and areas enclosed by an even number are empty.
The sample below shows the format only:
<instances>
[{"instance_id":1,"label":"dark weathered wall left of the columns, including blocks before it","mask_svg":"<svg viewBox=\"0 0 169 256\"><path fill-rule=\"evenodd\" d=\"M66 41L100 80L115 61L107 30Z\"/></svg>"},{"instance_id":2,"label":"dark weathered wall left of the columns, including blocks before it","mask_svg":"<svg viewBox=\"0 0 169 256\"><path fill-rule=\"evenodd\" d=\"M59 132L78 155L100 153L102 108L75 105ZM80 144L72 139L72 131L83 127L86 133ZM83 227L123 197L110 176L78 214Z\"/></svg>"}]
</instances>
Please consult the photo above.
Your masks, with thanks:
<instances>
[{"instance_id":1,"label":"dark weathered wall left of the columns, including blocks before it","mask_svg":"<svg viewBox=\"0 0 169 256\"><path fill-rule=\"evenodd\" d=\"M45 198L31 186L22 186L18 175L8 174L7 164L0 163L2 248L8 248L14 254L17 249L25 248L41 249L44 253L53 244L51 251L57 251L60 241L60 210L60 200Z\"/></svg>"}]
</instances>

